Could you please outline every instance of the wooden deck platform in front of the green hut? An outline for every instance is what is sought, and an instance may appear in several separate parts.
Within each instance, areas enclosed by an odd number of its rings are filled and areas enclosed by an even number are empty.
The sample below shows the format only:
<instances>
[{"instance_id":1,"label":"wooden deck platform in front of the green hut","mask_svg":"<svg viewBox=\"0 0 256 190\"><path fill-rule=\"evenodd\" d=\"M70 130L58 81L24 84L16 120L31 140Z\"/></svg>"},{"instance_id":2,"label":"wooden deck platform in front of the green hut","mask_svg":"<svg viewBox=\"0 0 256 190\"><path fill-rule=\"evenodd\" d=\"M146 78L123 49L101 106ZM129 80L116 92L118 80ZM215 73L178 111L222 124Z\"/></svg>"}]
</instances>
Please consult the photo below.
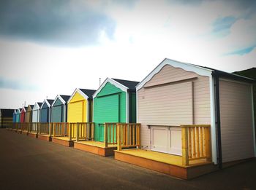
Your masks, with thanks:
<instances>
[{"instance_id":1,"label":"wooden deck platform in front of the green hut","mask_svg":"<svg viewBox=\"0 0 256 190\"><path fill-rule=\"evenodd\" d=\"M108 157L114 155L114 150L117 149L117 145L109 144L108 147L105 147L105 143L103 142L94 140L82 140L74 142L74 148L81 151L88 151L102 157Z\"/></svg>"}]
</instances>

